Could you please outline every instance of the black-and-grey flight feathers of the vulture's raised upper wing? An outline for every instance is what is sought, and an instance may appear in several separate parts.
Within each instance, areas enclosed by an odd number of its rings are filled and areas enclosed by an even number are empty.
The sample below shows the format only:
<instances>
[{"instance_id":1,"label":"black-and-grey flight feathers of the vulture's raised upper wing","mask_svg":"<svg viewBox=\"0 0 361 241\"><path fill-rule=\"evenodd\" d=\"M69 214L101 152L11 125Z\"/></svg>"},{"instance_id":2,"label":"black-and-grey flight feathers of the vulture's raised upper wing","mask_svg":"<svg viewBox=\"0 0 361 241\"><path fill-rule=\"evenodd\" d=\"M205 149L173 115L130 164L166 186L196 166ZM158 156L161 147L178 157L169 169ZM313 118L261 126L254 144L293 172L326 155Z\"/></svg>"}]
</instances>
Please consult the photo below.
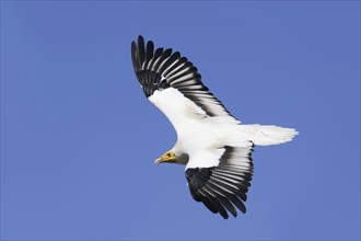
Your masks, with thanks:
<instances>
[{"instance_id":1,"label":"black-and-grey flight feathers of the vulture's raised upper wing","mask_svg":"<svg viewBox=\"0 0 361 241\"><path fill-rule=\"evenodd\" d=\"M149 41L145 46L143 37L139 36L138 44L131 43L131 58L136 76L147 97L156 91L175 89L208 116L226 116L235 120L203 85L197 68L178 51L172 53L172 48L158 48L154 51L153 42Z\"/></svg>"}]
</instances>

